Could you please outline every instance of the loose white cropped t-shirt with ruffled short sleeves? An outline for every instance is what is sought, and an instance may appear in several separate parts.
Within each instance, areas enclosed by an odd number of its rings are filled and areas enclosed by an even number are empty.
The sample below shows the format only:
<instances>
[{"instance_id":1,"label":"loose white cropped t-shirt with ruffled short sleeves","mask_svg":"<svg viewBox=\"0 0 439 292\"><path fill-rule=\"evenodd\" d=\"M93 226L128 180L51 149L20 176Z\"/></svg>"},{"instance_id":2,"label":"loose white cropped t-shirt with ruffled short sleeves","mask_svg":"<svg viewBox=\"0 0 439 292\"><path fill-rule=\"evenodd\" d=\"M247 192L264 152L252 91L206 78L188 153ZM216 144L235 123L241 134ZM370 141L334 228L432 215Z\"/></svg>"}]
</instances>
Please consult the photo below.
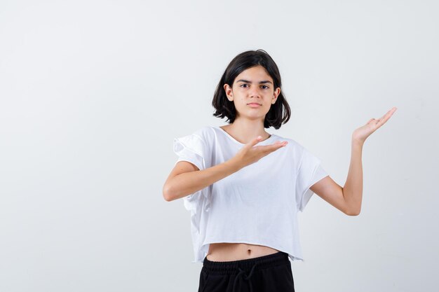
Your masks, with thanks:
<instances>
[{"instance_id":1,"label":"loose white cropped t-shirt with ruffled short sleeves","mask_svg":"<svg viewBox=\"0 0 439 292\"><path fill-rule=\"evenodd\" d=\"M303 211L313 195L309 187L328 174L320 160L293 139L271 134L255 146L277 140L288 144L183 197L191 212L192 263L202 263L214 242L269 246L303 261L297 211ZM175 138L173 150L177 162L189 161L203 170L234 157L244 145L220 127L205 126Z\"/></svg>"}]
</instances>

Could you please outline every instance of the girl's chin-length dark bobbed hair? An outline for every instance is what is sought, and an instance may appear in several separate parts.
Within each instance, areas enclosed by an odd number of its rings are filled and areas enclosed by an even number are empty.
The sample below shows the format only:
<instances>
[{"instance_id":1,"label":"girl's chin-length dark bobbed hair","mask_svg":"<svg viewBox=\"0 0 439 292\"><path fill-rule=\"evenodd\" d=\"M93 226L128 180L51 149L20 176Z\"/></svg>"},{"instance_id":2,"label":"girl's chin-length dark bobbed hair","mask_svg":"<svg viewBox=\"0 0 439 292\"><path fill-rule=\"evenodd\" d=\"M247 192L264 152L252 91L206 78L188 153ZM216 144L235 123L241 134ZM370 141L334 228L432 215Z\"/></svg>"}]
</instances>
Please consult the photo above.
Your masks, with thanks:
<instances>
[{"instance_id":1,"label":"girl's chin-length dark bobbed hair","mask_svg":"<svg viewBox=\"0 0 439 292\"><path fill-rule=\"evenodd\" d=\"M265 115L264 127L274 127L276 130L290 120L291 110L288 105L287 100L283 96L281 74L279 73L278 66L271 59L270 55L266 51L259 50L248 50L246 52L240 53L229 63L222 74L221 79L213 95L212 106L215 108L215 113L213 116L224 118L227 117L229 123L234 123L236 118L236 109L234 102L230 102L227 99L226 92L224 90L224 84L229 84L230 87L233 86L236 76L241 74L242 71L255 66L262 66L265 68L269 76L273 78L273 87L281 88L281 93L274 104L271 104L271 108ZM285 111L284 111L285 109Z\"/></svg>"}]
</instances>

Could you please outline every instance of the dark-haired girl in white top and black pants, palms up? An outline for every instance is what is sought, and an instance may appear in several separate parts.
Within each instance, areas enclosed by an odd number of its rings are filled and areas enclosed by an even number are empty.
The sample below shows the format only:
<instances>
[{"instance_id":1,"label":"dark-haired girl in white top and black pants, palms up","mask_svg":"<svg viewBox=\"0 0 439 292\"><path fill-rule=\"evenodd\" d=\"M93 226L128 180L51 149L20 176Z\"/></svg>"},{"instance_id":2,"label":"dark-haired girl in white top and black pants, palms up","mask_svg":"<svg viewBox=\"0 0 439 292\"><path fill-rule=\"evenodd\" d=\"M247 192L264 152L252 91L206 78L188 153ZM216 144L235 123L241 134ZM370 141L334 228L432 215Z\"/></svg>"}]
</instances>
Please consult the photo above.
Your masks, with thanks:
<instances>
[{"instance_id":1,"label":"dark-haired girl in white top and black pants, palms up","mask_svg":"<svg viewBox=\"0 0 439 292\"><path fill-rule=\"evenodd\" d=\"M174 139L179 156L163 186L167 201L191 212L198 292L295 291L290 260L303 260L297 212L313 193L349 216L360 214L365 139L396 108L352 134L344 187L293 139L265 132L290 119L281 75L264 50L249 50L224 71L212 106L229 125Z\"/></svg>"}]
</instances>

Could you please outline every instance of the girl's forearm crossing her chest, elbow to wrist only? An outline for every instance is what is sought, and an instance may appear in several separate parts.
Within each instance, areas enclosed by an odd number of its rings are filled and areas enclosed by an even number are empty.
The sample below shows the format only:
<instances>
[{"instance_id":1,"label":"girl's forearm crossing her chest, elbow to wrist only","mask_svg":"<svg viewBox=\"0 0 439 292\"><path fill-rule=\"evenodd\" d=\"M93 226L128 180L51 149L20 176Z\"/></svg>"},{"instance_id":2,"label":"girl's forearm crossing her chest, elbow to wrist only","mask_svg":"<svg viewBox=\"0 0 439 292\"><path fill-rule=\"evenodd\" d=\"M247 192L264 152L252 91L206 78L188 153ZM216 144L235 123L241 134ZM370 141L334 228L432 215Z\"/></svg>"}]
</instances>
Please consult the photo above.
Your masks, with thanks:
<instances>
[{"instance_id":1,"label":"girl's forearm crossing her chest, elbow to wrist only","mask_svg":"<svg viewBox=\"0 0 439 292\"><path fill-rule=\"evenodd\" d=\"M168 182L170 201L186 197L198 190L210 186L211 184L224 179L224 177L237 172L242 167L232 158L219 165L208 167L195 172L184 172L173 177Z\"/></svg>"}]
</instances>

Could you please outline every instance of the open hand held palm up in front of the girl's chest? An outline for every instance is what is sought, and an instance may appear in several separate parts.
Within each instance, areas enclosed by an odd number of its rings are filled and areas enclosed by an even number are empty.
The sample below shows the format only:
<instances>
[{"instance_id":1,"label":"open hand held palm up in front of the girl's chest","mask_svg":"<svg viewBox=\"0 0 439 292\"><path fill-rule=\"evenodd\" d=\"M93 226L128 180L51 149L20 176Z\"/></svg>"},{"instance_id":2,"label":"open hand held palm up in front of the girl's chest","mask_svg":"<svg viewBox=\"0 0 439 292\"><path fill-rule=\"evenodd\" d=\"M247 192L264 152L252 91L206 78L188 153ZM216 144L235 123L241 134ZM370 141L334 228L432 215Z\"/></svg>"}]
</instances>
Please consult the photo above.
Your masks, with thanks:
<instances>
[{"instance_id":1,"label":"open hand held palm up in front of the girl's chest","mask_svg":"<svg viewBox=\"0 0 439 292\"><path fill-rule=\"evenodd\" d=\"M245 144L241 149L239 149L238 153L231 158L236 162L236 165L241 169L252 163L257 162L259 159L263 158L269 153L278 150L278 148L285 147L288 144L288 141L276 141L274 144L265 145L265 146L255 146L259 143L258 138L252 139L248 144ZM253 147L254 146L254 147Z\"/></svg>"}]
</instances>

